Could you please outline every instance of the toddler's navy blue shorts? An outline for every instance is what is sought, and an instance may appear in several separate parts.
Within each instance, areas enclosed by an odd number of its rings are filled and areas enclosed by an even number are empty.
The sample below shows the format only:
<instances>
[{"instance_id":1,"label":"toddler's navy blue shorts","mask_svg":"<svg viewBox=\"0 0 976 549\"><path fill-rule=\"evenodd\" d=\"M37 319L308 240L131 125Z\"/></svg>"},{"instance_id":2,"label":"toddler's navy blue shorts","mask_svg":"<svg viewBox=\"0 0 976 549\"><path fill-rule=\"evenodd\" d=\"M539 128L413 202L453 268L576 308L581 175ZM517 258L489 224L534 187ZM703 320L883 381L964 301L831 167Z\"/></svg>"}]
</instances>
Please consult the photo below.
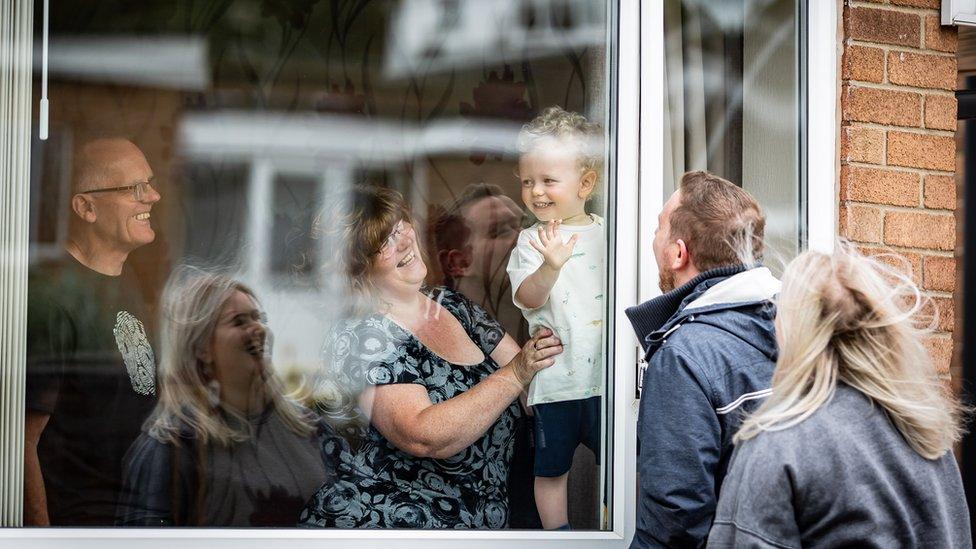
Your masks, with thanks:
<instances>
[{"instance_id":1,"label":"toddler's navy blue shorts","mask_svg":"<svg viewBox=\"0 0 976 549\"><path fill-rule=\"evenodd\" d=\"M535 476L558 477L569 472L573 453L583 443L600 464L600 397L545 402L535 412Z\"/></svg>"}]
</instances>

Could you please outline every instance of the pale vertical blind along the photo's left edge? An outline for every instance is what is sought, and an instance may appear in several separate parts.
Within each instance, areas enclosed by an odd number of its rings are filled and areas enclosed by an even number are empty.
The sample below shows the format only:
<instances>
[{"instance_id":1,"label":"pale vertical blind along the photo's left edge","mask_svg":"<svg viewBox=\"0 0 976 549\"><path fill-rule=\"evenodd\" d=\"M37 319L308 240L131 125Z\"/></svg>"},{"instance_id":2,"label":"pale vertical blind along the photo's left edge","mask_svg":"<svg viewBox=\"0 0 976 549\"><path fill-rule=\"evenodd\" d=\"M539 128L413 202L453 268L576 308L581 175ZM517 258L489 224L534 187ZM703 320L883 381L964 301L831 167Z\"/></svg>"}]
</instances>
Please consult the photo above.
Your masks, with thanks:
<instances>
[{"instance_id":1,"label":"pale vertical blind along the photo's left edge","mask_svg":"<svg viewBox=\"0 0 976 549\"><path fill-rule=\"evenodd\" d=\"M0 2L0 527L23 522L33 2Z\"/></svg>"}]
</instances>

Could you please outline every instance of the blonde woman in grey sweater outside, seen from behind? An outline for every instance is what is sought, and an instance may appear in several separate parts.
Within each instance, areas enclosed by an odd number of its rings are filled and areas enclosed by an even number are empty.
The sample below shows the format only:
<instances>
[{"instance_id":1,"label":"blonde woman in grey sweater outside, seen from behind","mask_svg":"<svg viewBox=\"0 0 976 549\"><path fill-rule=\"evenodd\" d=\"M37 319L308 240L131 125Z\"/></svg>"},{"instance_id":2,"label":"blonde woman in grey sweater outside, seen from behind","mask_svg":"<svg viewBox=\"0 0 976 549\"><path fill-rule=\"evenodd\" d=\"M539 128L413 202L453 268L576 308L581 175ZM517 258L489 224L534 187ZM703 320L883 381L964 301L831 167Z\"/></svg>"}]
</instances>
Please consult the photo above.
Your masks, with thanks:
<instances>
[{"instance_id":1,"label":"blonde woman in grey sweater outside, seen from behind","mask_svg":"<svg viewBox=\"0 0 976 549\"><path fill-rule=\"evenodd\" d=\"M972 547L963 409L921 343L910 277L806 252L783 276L772 395L747 417L709 547Z\"/></svg>"}]
</instances>

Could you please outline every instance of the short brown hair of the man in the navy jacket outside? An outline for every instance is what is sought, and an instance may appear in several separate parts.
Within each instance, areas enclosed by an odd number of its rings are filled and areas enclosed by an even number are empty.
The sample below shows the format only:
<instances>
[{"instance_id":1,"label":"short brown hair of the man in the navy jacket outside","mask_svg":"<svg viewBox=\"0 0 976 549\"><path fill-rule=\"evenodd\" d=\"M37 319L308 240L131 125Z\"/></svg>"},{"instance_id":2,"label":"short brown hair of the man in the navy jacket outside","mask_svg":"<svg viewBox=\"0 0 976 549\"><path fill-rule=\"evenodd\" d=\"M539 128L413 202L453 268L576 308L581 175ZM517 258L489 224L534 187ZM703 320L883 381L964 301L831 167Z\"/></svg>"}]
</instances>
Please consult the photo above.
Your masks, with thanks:
<instances>
[{"instance_id":1,"label":"short brown hair of the man in the navy jacket outside","mask_svg":"<svg viewBox=\"0 0 976 549\"><path fill-rule=\"evenodd\" d=\"M681 178L671 240L684 240L699 271L762 260L766 217L752 196L705 171Z\"/></svg>"}]
</instances>

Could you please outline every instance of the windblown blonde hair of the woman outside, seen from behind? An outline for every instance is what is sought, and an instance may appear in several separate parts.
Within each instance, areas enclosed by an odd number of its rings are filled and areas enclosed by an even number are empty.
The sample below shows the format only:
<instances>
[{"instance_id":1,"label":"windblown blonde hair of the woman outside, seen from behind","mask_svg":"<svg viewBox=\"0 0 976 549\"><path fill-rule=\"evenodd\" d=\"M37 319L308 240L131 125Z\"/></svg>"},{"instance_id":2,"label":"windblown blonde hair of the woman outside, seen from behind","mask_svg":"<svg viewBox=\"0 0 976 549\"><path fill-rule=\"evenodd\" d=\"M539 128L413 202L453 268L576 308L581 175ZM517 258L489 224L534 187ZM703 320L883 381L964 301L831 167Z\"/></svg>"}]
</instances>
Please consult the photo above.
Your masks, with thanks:
<instances>
[{"instance_id":1,"label":"windblown blonde hair of the woman outside, seen from behind","mask_svg":"<svg viewBox=\"0 0 976 549\"><path fill-rule=\"evenodd\" d=\"M909 269L910 272L910 269ZM734 440L810 417L843 382L881 406L908 444L935 459L962 435L963 406L943 386L922 336L922 297L911 276L848 243L808 251L783 274L777 299L779 359L772 394Z\"/></svg>"}]
</instances>

